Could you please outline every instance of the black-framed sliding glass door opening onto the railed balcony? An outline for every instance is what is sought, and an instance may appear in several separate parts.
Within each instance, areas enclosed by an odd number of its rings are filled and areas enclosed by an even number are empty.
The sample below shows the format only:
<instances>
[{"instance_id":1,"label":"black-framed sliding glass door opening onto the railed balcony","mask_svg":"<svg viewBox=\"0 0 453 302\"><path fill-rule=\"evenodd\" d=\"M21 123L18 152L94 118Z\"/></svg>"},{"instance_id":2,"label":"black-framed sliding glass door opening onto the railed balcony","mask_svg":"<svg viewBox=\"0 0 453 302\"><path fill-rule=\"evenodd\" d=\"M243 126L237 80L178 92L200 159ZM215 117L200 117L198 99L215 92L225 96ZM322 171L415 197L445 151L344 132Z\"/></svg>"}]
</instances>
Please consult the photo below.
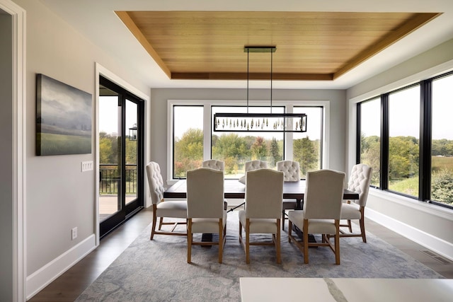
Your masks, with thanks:
<instances>
[{"instance_id":1,"label":"black-framed sliding glass door opening onto the railed balcony","mask_svg":"<svg viewBox=\"0 0 453 302\"><path fill-rule=\"evenodd\" d=\"M99 221L102 238L143 208L143 100L101 77Z\"/></svg>"}]
</instances>

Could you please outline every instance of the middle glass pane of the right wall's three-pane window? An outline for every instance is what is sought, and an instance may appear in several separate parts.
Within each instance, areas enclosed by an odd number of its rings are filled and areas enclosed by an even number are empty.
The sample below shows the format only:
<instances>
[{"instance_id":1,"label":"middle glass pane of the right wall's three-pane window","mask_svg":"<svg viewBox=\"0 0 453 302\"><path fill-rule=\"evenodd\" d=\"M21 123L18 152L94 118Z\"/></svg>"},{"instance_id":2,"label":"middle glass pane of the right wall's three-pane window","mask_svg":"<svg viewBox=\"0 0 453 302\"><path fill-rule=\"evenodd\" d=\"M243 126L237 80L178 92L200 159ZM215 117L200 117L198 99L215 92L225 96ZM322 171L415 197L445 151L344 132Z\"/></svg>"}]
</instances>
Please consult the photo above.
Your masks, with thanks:
<instances>
[{"instance_id":1,"label":"middle glass pane of the right wall's three-pane window","mask_svg":"<svg viewBox=\"0 0 453 302\"><path fill-rule=\"evenodd\" d=\"M418 196L420 86L389 95L389 190Z\"/></svg>"}]
</instances>

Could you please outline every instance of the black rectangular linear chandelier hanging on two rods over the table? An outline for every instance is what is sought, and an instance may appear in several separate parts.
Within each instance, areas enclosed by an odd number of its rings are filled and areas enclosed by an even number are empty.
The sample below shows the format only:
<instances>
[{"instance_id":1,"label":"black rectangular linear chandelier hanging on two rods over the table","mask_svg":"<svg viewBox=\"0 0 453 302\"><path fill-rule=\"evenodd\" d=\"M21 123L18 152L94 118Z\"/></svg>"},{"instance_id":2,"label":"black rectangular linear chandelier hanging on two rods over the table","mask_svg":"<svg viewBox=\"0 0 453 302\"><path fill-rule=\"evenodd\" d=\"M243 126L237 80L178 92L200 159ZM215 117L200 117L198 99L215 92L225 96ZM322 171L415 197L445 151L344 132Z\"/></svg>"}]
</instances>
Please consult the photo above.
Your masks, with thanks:
<instances>
[{"instance_id":1,"label":"black rectangular linear chandelier hanging on two rods over the table","mask_svg":"<svg viewBox=\"0 0 453 302\"><path fill-rule=\"evenodd\" d=\"M306 132L305 113L272 112L273 53L275 46L245 46L247 52L247 113L215 113L214 132ZM249 54L270 52L270 113L248 112Z\"/></svg>"}]
</instances>

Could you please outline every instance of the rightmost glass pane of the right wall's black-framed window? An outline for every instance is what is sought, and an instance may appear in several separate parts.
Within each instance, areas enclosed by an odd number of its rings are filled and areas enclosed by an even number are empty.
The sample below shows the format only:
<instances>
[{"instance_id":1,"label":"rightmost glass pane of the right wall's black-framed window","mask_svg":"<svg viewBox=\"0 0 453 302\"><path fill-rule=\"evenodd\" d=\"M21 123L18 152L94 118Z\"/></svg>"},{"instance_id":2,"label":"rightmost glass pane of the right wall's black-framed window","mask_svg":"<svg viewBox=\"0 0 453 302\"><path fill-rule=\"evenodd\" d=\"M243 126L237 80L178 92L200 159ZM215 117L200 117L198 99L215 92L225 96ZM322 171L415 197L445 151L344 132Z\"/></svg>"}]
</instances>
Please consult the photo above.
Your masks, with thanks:
<instances>
[{"instance_id":1,"label":"rightmost glass pane of the right wall's black-framed window","mask_svg":"<svg viewBox=\"0 0 453 302\"><path fill-rule=\"evenodd\" d=\"M432 81L431 200L453 204L453 75Z\"/></svg>"}]
</instances>

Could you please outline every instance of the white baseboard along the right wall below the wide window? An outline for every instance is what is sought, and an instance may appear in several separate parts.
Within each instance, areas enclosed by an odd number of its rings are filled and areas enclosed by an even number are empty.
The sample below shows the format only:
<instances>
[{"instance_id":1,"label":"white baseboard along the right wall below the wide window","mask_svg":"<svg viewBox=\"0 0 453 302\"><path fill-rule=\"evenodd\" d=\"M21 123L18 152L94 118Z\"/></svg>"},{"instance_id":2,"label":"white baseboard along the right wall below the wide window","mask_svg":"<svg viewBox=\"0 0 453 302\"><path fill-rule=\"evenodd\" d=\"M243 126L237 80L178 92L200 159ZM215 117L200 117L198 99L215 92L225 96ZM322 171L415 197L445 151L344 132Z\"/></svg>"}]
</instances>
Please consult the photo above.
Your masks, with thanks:
<instances>
[{"instance_id":1,"label":"white baseboard along the right wall below the wide window","mask_svg":"<svg viewBox=\"0 0 453 302\"><path fill-rule=\"evenodd\" d=\"M402 223L401 221L379 213L378 211L374 211L373 209L367 208L365 210L365 216L367 219L371 219L372 221L389 228L391 231L394 231L401 236L413 240L415 243L423 245L425 248L429 248L430 250L447 257L449 260L453 260L452 243L425 233L418 228L409 226L406 223Z\"/></svg>"}]
</instances>

